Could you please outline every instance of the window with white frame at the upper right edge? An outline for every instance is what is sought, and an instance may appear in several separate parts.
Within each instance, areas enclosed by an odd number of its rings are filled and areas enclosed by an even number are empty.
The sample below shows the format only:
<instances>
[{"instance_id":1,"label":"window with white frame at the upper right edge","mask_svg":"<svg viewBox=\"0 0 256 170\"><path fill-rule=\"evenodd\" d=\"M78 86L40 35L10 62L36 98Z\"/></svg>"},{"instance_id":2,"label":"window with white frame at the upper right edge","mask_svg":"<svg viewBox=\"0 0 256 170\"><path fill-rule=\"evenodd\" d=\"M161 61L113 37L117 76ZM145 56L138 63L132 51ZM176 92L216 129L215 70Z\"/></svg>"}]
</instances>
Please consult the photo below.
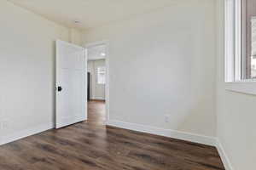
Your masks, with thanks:
<instances>
[{"instance_id":1,"label":"window with white frame at the upper right edge","mask_svg":"<svg viewBox=\"0 0 256 170\"><path fill-rule=\"evenodd\" d=\"M226 0L226 82L256 79L256 0Z\"/></svg>"}]
</instances>

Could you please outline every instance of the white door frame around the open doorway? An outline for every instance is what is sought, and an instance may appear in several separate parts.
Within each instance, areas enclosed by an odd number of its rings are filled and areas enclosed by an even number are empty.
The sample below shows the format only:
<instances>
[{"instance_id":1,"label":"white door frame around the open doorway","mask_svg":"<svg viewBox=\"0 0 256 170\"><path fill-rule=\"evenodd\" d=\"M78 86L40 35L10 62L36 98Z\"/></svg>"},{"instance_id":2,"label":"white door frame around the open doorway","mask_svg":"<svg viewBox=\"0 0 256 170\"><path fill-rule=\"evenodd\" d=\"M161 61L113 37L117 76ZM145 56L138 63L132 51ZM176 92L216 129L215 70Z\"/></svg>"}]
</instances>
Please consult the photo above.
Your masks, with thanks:
<instances>
[{"instance_id":1,"label":"white door frame around the open doorway","mask_svg":"<svg viewBox=\"0 0 256 170\"><path fill-rule=\"evenodd\" d=\"M106 123L108 125L109 121L109 42L108 40L96 41L96 42L88 42L84 44L84 48L87 52L86 65L88 62L88 48L105 45L106 46L106 56L105 56L105 67L106 67L106 84L105 84L105 105L106 105ZM88 103L86 103L88 105ZM88 106L86 106L88 108ZM88 114L87 114L88 116Z\"/></svg>"}]
</instances>

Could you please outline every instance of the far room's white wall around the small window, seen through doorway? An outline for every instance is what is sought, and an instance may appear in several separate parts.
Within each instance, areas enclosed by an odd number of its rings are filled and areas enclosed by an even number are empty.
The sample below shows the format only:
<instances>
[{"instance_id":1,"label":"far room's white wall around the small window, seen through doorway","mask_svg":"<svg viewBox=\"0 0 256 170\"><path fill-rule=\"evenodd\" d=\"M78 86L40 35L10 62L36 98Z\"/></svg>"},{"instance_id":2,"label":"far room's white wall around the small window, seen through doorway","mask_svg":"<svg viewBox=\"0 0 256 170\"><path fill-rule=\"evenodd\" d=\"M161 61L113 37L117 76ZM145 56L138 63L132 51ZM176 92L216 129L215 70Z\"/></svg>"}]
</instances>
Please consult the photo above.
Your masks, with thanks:
<instances>
[{"instance_id":1,"label":"far room's white wall around the small window, seen through doorway","mask_svg":"<svg viewBox=\"0 0 256 170\"><path fill-rule=\"evenodd\" d=\"M106 66L105 59L88 61L88 71L90 72L90 99L105 99L105 85L97 83L97 68Z\"/></svg>"}]
</instances>

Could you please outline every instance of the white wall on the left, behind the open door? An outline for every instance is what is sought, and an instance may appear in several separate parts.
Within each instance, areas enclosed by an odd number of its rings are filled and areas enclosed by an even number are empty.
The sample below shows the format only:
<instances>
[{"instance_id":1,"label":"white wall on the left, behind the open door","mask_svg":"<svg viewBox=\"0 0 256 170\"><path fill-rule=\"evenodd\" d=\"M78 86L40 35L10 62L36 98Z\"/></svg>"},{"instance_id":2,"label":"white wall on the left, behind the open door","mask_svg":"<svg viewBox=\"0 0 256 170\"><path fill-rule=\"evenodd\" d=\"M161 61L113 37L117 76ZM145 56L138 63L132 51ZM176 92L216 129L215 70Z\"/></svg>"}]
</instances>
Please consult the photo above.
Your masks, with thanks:
<instances>
[{"instance_id":1,"label":"white wall on the left, behind the open door","mask_svg":"<svg viewBox=\"0 0 256 170\"><path fill-rule=\"evenodd\" d=\"M55 40L69 29L0 0L0 144L53 126Z\"/></svg>"}]
</instances>

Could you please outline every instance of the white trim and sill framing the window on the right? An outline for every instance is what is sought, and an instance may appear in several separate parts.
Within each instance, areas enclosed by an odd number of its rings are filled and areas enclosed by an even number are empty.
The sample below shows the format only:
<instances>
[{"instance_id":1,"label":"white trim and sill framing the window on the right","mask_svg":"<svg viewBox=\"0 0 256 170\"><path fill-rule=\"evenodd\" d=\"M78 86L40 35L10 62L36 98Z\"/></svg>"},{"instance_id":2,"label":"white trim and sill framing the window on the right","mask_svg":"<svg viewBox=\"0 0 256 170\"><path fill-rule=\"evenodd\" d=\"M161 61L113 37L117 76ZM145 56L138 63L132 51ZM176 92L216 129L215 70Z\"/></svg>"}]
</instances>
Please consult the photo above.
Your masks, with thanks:
<instances>
[{"instance_id":1,"label":"white trim and sill framing the window on the right","mask_svg":"<svg viewBox=\"0 0 256 170\"><path fill-rule=\"evenodd\" d=\"M241 79L241 2L225 0L225 89L256 95L256 80Z\"/></svg>"}]
</instances>

